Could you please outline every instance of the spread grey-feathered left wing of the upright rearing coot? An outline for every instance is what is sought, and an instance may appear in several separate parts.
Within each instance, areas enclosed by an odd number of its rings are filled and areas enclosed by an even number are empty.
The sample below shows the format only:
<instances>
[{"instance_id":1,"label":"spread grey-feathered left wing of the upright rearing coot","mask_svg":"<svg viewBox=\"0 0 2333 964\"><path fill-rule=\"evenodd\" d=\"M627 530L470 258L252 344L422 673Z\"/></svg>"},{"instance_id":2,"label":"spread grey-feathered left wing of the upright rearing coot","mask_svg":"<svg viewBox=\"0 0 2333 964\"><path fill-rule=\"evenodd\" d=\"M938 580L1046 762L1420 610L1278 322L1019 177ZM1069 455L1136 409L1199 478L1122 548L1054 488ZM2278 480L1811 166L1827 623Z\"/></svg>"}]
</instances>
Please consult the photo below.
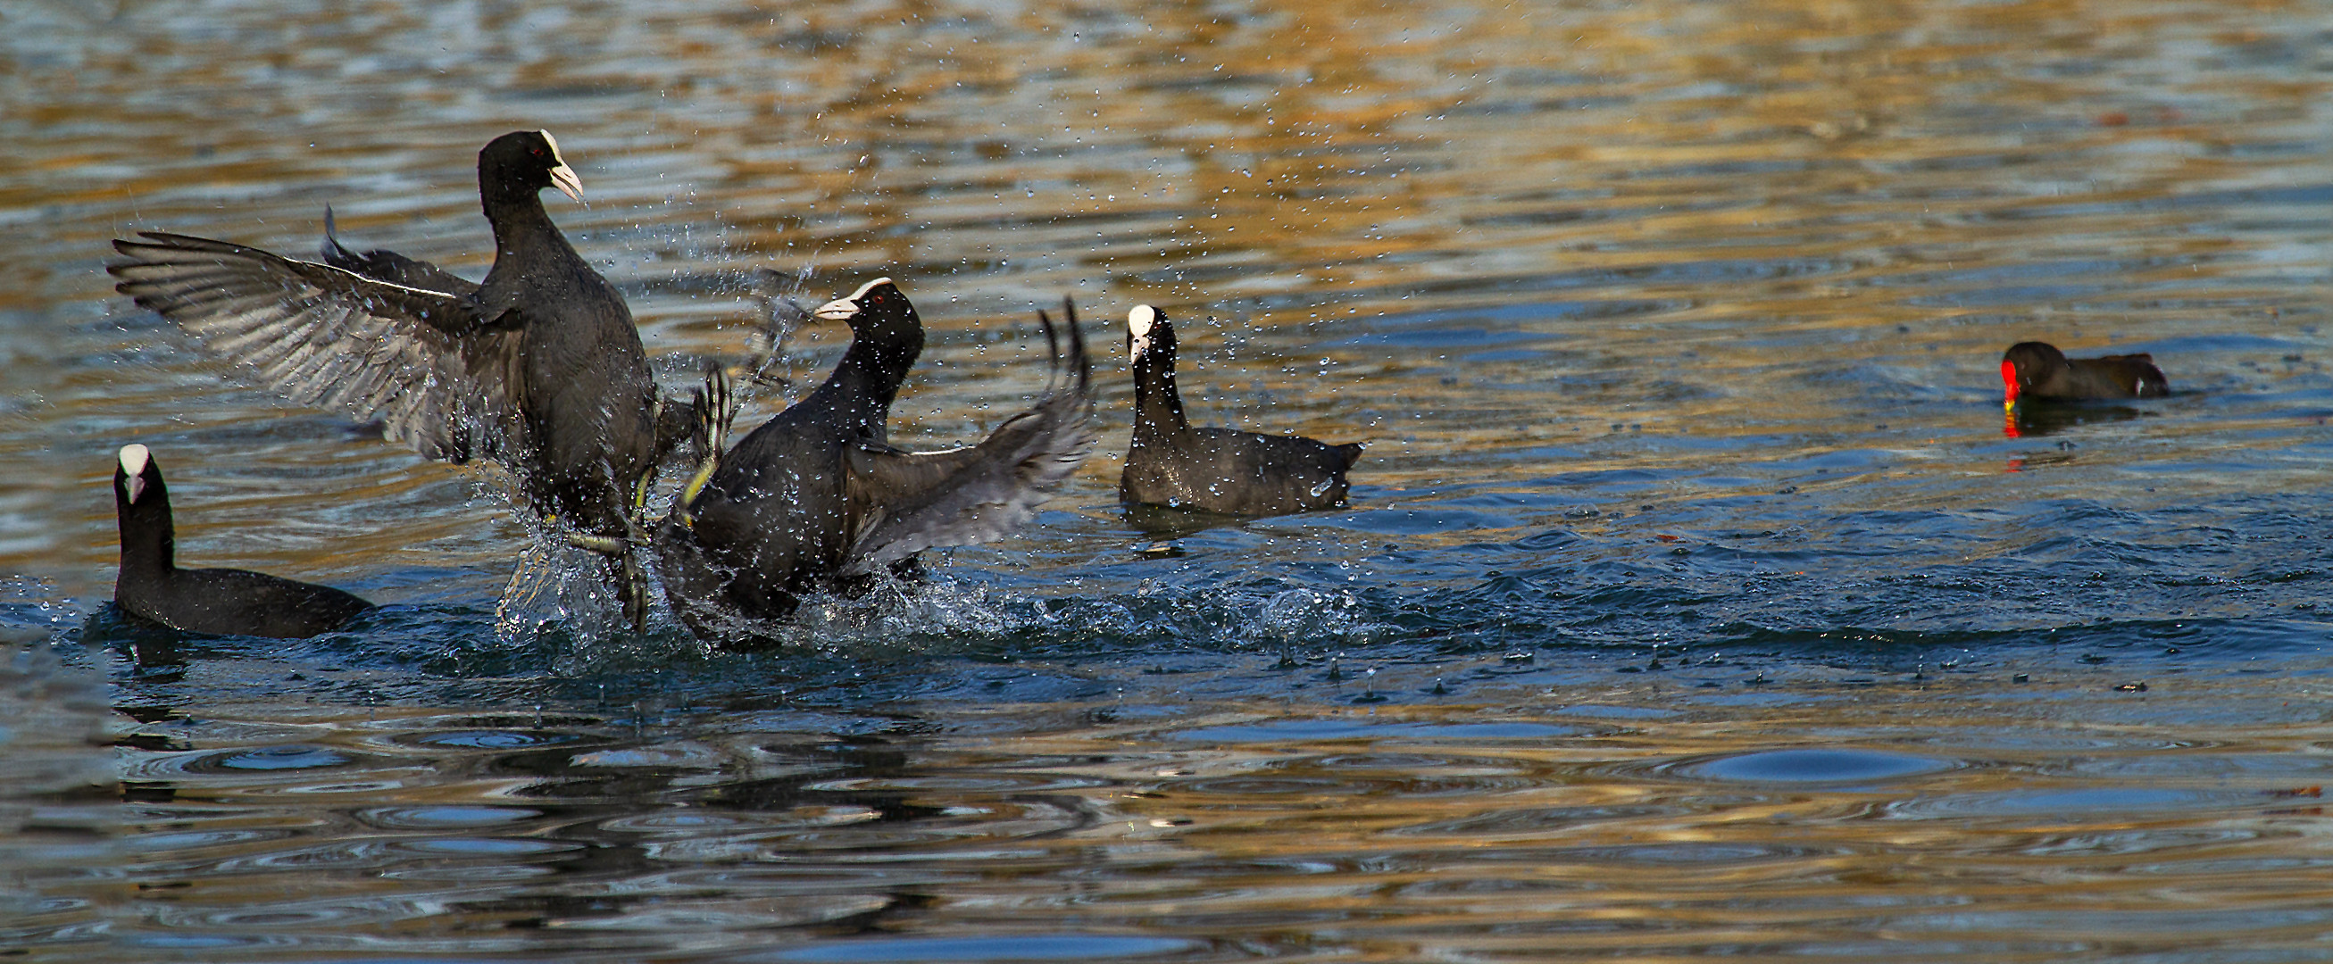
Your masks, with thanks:
<instances>
[{"instance_id":1,"label":"spread grey-feathered left wing of the upright rearing coot","mask_svg":"<svg viewBox=\"0 0 2333 964\"><path fill-rule=\"evenodd\" d=\"M292 401L380 420L429 457L506 460L525 446L518 331L488 324L469 296L224 240L140 238L114 240L114 289Z\"/></svg>"}]
</instances>

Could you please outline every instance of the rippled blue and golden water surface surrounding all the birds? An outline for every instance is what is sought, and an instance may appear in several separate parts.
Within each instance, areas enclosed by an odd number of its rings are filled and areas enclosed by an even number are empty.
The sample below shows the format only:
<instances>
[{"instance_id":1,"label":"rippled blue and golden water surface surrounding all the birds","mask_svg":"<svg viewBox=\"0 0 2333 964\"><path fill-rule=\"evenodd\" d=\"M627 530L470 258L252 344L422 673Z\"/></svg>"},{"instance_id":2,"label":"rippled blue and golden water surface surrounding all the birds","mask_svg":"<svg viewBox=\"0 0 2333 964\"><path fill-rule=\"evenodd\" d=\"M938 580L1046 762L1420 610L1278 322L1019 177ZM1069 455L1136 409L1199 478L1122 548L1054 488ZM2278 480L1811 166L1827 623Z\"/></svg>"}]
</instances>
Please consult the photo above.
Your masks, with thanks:
<instances>
[{"instance_id":1,"label":"rippled blue and golden water surface surrounding all the birds","mask_svg":"<svg viewBox=\"0 0 2333 964\"><path fill-rule=\"evenodd\" d=\"M0 7L0 948L56 962L2328 959L2333 21L2312 2ZM877 273L1022 537L646 637L504 483L278 404L107 240L478 275L478 145L672 387ZM1344 511L1127 516L1122 317ZM1999 352L2174 394L2004 422ZM789 341L784 385L840 331ZM110 609L180 546L387 607ZM667 478L670 488L672 478ZM513 572L518 579L513 581ZM506 593L509 586L516 593Z\"/></svg>"}]
</instances>

